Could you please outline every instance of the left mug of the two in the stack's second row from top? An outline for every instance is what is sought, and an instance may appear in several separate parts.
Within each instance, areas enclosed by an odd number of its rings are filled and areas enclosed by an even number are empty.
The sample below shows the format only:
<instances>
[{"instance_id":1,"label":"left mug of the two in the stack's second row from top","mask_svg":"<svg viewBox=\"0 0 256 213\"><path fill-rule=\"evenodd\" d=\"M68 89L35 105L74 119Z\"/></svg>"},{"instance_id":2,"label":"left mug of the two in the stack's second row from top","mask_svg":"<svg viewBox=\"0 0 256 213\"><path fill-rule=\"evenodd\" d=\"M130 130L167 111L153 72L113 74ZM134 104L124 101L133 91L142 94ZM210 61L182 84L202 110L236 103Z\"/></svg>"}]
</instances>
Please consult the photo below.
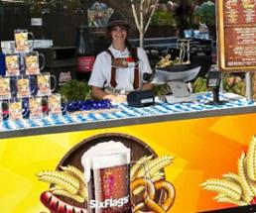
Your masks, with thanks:
<instances>
[{"instance_id":1,"label":"left mug of the two in the stack's second row from top","mask_svg":"<svg viewBox=\"0 0 256 213\"><path fill-rule=\"evenodd\" d=\"M18 76L20 75L20 65L19 65L19 54L6 54L5 56L6 64L6 76Z\"/></svg>"}]
</instances>

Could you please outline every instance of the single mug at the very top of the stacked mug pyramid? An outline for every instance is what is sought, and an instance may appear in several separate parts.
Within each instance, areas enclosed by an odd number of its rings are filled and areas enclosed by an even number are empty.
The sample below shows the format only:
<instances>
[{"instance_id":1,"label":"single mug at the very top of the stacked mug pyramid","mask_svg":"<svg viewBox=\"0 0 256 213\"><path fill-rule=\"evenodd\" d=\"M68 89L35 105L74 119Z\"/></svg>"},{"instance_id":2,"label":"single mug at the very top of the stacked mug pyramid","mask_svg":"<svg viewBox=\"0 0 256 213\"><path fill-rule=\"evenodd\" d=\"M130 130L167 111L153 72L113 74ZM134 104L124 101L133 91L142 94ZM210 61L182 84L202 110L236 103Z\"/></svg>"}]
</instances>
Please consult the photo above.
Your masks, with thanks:
<instances>
[{"instance_id":1,"label":"single mug at the very top of the stacked mug pyramid","mask_svg":"<svg viewBox=\"0 0 256 213\"><path fill-rule=\"evenodd\" d=\"M32 44L29 45L29 35L32 37ZM15 48L18 53L29 52L34 46L34 34L28 30L18 29L14 31Z\"/></svg>"}]
</instances>

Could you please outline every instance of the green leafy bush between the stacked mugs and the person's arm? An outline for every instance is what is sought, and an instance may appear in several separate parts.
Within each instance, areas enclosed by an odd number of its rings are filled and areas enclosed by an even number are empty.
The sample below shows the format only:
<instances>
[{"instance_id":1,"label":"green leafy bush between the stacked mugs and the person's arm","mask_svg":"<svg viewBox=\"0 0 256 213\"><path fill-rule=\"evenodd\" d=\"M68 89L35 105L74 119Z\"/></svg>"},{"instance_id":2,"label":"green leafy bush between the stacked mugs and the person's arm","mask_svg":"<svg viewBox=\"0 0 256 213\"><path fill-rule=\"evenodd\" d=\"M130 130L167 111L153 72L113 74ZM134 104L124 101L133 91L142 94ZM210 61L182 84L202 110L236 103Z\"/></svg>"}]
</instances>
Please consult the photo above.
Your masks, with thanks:
<instances>
[{"instance_id":1,"label":"green leafy bush between the stacked mugs and the person's arm","mask_svg":"<svg viewBox=\"0 0 256 213\"><path fill-rule=\"evenodd\" d=\"M67 101L85 100L90 97L90 87L86 82L72 79L61 86L60 93Z\"/></svg>"}]
</instances>

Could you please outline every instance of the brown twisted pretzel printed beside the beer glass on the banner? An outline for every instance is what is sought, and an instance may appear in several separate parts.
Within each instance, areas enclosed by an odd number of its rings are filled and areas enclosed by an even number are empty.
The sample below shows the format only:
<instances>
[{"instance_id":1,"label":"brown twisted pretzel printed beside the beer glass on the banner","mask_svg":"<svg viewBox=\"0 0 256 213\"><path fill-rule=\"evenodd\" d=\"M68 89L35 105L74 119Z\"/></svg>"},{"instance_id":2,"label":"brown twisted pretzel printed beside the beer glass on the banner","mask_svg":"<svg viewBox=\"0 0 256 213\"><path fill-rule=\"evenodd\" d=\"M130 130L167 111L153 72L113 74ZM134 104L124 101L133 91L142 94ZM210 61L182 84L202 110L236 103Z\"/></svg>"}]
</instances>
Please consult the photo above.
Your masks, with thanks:
<instances>
[{"instance_id":1,"label":"brown twisted pretzel printed beside the beer glass on the banner","mask_svg":"<svg viewBox=\"0 0 256 213\"><path fill-rule=\"evenodd\" d=\"M140 202L134 206L133 212L135 213L144 213L142 209L147 207L148 210L156 212L156 213L166 213L172 207L175 201L175 187L172 183L159 180L152 183L151 180L140 177L136 178L131 183L131 191L134 191L137 187L144 186L145 191L143 194L144 202ZM163 203L158 203L155 201L155 192L157 190L164 189L167 193L166 199ZM133 202L134 203L134 202Z\"/></svg>"}]
</instances>

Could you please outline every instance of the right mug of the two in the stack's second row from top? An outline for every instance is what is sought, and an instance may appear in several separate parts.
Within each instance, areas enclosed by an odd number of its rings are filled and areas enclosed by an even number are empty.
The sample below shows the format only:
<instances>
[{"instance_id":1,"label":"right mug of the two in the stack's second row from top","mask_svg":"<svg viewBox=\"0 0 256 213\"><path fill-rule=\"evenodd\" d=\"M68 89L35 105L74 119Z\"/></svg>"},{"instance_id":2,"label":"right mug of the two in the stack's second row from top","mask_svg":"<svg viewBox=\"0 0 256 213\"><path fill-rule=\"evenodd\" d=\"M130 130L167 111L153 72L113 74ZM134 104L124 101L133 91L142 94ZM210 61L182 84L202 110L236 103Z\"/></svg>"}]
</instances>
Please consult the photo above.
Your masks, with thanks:
<instances>
[{"instance_id":1,"label":"right mug of the two in the stack's second row from top","mask_svg":"<svg viewBox=\"0 0 256 213\"><path fill-rule=\"evenodd\" d=\"M42 64L40 66L40 59ZM30 52L25 54L26 74L40 74L40 70L45 67L45 56L42 53Z\"/></svg>"}]
</instances>

